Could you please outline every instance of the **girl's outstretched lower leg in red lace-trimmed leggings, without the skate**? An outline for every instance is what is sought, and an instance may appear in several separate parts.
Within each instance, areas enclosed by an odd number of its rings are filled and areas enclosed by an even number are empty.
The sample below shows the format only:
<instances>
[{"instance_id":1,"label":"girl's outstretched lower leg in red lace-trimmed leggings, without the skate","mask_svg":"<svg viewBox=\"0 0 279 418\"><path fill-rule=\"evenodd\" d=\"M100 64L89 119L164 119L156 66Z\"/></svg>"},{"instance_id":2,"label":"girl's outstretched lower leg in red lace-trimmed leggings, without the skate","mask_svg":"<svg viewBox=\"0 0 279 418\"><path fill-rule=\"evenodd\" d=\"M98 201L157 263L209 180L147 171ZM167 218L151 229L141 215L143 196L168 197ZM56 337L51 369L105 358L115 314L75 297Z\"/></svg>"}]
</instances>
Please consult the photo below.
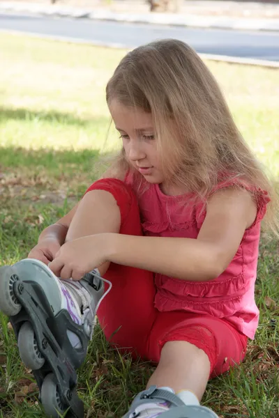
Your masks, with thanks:
<instances>
[{"instance_id":1,"label":"girl's outstretched lower leg in red lace-trimmed leggings, without the skate","mask_svg":"<svg viewBox=\"0 0 279 418\"><path fill-rule=\"evenodd\" d=\"M243 360L246 344L225 320L160 312L149 340L149 356L159 364L148 385L187 389L200 400L209 378Z\"/></svg>"}]
</instances>

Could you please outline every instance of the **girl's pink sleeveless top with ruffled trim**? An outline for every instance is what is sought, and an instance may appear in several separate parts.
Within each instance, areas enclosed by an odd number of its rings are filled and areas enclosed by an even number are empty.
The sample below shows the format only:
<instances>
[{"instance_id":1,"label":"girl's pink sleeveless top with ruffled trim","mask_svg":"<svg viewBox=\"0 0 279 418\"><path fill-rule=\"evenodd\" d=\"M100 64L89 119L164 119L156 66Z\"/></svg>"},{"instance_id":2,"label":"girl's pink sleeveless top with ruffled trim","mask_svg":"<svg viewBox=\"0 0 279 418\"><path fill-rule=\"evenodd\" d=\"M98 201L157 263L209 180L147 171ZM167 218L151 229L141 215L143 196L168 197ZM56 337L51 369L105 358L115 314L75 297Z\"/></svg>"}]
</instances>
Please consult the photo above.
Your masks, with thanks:
<instances>
[{"instance_id":1,"label":"girl's pink sleeveless top with ruffled trim","mask_svg":"<svg viewBox=\"0 0 279 418\"><path fill-rule=\"evenodd\" d=\"M139 193L130 174L126 176L125 183L131 185L137 194L144 235L197 238L206 215L204 203L183 206L181 201L183 203L186 199L189 200L191 194L167 196L159 185L153 184L144 183L146 189ZM250 339L254 339L259 320L254 293L260 221L270 199L267 192L252 188L237 178L219 183L213 192L237 183L256 192L257 217L244 233L232 262L219 277L211 281L186 281L155 274L155 306L159 311L185 310L223 318Z\"/></svg>"}]
</instances>

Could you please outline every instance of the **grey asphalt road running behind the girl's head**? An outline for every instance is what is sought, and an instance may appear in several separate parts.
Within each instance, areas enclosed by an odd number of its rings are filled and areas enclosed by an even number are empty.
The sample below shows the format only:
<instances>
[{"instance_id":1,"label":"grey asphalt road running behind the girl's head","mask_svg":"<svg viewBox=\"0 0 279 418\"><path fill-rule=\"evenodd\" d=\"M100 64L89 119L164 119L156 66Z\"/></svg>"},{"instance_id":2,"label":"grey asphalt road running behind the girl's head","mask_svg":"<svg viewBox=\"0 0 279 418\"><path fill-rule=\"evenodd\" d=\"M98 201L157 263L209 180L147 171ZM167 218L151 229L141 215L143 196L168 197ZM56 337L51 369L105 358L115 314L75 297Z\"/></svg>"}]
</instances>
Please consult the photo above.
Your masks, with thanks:
<instances>
[{"instance_id":1,"label":"grey asphalt road running behind the girl's head","mask_svg":"<svg viewBox=\"0 0 279 418\"><path fill-rule=\"evenodd\" d=\"M116 47L137 47L151 40L177 38L199 53L279 61L279 32L192 29L4 13L0 14L1 29Z\"/></svg>"}]
</instances>

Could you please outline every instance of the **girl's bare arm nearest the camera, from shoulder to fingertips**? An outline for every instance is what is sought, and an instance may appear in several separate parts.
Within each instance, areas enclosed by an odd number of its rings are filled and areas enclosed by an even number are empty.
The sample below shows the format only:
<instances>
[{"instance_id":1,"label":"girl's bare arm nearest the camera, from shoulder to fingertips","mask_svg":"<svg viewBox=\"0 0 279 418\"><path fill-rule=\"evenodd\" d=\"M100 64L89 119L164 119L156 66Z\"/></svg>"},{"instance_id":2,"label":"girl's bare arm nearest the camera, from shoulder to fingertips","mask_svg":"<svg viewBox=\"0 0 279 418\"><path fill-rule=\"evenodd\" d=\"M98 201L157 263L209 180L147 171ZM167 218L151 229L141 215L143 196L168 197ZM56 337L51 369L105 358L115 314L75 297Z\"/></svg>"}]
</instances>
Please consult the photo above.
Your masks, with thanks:
<instances>
[{"instance_id":1,"label":"girl's bare arm nearest the camera, from shoulder to fingertips","mask_svg":"<svg viewBox=\"0 0 279 418\"><path fill-rule=\"evenodd\" d=\"M89 207L84 205L83 215L86 213ZM197 239L140 237L102 230L67 242L50 267L63 279L80 279L85 272L104 262L189 281L215 279L234 258L245 230L256 215L257 207L249 192L223 189L209 199Z\"/></svg>"}]
</instances>

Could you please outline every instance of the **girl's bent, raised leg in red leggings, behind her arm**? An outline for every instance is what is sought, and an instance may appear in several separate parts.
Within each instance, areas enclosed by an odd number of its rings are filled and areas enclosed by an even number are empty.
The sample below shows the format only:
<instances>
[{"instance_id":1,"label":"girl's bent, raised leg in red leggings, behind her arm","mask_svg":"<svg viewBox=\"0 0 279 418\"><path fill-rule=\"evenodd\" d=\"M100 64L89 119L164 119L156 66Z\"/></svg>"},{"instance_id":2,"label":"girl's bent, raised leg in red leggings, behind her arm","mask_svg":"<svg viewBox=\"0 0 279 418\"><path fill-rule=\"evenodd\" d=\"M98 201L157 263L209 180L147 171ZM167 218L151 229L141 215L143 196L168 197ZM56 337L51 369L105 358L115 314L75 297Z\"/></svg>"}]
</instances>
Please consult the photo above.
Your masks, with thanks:
<instances>
[{"instance_id":1,"label":"girl's bent, raised leg in red leggings, behind her arm","mask_svg":"<svg viewBox=\"0 0 279 418\"><path fill-rule=\"evenodd\" d=\"M137 199L130 187L106 178L93 183L87 192L90 196L85 196L86 201L77 209L67 240L102 232L142 235ZM112 282L112 290L98 309L107 340L146 357L147 339L156 318L153 273L114 263L99 270Z\"/></svg>"}]
</instances>

